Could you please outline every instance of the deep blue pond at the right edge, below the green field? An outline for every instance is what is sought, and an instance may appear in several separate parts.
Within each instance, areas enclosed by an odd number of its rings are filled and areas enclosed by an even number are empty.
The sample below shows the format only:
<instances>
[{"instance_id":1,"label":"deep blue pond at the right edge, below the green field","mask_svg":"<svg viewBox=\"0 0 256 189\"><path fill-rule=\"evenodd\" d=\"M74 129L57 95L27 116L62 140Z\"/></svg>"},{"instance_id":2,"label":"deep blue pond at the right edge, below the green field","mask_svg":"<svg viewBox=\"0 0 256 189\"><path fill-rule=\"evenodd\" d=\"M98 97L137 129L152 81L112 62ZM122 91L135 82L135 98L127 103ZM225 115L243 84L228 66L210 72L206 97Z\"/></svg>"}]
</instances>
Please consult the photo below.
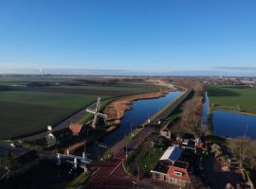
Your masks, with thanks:
<instances>
[{"instance_id":1,"label":"deep blue pond at the right edge, below the green field","mask_svg":"<svg viewBox=\"0 0 256 189\"><path fill-rule=\"evenodd\" d=\"M244 136L256 139L256 116L239 112L213 111L213 129L217 135L230 138Z\"/></svg>"}]
</instances>

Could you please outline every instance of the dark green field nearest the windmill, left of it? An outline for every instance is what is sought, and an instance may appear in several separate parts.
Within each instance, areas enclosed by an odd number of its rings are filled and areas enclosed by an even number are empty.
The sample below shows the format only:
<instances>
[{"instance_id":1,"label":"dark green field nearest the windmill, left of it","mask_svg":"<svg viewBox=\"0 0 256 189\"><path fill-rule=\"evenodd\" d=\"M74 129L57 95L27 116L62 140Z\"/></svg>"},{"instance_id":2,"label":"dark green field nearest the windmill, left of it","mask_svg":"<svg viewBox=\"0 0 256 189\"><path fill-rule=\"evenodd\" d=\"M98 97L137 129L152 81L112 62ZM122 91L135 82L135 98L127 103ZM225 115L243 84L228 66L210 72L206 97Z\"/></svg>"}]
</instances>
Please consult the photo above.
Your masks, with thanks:
<instances>
[{"instance_id":1,"label":"dark green field nearest the windmill, left of it","mask_svg":"<svg viewBox=\"0 0 256 189\"><path fill-rule=\"evenodd\" d=\"M107 96L106 96L107 97ZM89 105L97 95L0 92L0 138L46 129Z\"/></svg>"}]
</instances>

